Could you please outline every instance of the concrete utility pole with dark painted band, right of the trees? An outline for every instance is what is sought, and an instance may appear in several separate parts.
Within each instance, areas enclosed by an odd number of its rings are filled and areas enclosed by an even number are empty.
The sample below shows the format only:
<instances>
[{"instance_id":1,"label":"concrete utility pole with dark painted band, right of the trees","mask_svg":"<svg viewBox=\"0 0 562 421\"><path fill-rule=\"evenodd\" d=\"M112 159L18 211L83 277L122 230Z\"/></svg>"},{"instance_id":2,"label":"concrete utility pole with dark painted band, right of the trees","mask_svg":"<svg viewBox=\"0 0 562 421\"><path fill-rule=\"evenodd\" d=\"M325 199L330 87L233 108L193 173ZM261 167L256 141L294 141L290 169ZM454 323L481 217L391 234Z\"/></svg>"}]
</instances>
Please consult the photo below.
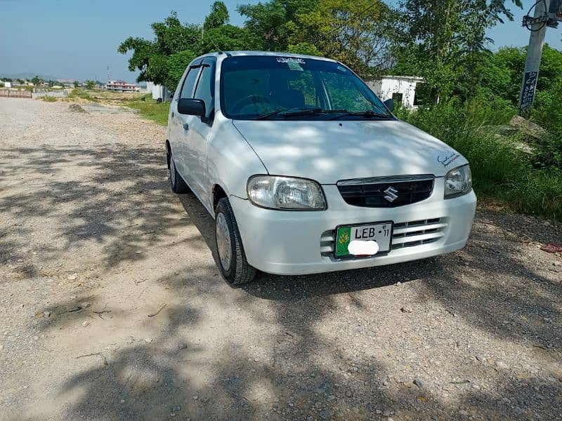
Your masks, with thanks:
<instances>
[{"instance_id":1,"label":"concrete utility pole with dark painted band, right of the trees","mask_svg":"<svg viewBox=\"0 0 562 421\"><path fill-rule=\"evenodd\" d=\"M557 27L561 19L560 8L562 0L537 0L534 7L535 15L531 18L523 16L523 26L529 29L529 46L527 48L527 60L525 71L519 93L518 114L525 115L530 112L532 103L535 101L535 90L539 76L540 60L542 58L542 46L544 46L544 35L547 27Z\"/></svg>"}]
</instances>

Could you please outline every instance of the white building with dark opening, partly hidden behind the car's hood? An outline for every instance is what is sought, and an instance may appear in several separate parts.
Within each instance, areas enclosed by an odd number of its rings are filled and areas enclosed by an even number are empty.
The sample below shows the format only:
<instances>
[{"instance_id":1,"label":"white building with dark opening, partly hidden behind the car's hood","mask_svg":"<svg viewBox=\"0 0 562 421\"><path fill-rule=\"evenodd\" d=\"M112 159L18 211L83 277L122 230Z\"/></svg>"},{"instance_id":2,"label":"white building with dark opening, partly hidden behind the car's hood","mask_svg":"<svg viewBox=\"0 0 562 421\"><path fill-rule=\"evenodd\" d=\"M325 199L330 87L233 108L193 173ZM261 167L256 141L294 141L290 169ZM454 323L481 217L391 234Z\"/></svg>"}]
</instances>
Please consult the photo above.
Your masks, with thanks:
<instances>
[{"instance_id":1,"label":"white building with dark opening, partly hidden behind the car's hood","mask_svg":"<svg viewBox=\"0 0 562 421\"><path fill-rule=\"evenodd\" d=\"M392 98L407 108L416 109L416 85L423 81L418 76L379 76L367 79L367 85L383 101Z\"/></svg>"}]
</instances>

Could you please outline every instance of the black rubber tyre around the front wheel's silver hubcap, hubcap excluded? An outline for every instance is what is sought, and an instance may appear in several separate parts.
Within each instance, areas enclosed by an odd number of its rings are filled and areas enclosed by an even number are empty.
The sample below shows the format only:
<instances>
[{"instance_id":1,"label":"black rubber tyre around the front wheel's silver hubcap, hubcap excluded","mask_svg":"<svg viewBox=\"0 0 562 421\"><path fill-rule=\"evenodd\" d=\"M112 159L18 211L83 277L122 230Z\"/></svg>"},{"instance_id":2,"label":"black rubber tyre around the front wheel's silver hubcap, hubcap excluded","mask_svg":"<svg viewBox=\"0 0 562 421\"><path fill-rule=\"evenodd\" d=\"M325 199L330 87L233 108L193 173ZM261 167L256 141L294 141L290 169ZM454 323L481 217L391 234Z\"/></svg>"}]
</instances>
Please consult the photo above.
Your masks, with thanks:
<instances>
[{"instance_id":1,"label":"black rubber tyre around the front wheel's silver hubcap, hubcap excluded","mask_svg":"<svg viewBox=\"0 0 562 421\"><path fill-rule=\"evenodd\" d=\"M221 259L221 252L218 247L217 238L217 225L219 224L220 214L223 215L228 227L228 234L230 234L230 265L227 269L223 267ZM234 217L234 212L230 202L226 197L218 201L215 209L215 246L217 255L217 265L221 269L221 274L226 281L232 285L240 285L254 280L256 276L256 269L251 267L246 260L246 253L244 253L244 246L242 246L242 239L240 238L240 231Z\"/></svg>"}]
</instances>

